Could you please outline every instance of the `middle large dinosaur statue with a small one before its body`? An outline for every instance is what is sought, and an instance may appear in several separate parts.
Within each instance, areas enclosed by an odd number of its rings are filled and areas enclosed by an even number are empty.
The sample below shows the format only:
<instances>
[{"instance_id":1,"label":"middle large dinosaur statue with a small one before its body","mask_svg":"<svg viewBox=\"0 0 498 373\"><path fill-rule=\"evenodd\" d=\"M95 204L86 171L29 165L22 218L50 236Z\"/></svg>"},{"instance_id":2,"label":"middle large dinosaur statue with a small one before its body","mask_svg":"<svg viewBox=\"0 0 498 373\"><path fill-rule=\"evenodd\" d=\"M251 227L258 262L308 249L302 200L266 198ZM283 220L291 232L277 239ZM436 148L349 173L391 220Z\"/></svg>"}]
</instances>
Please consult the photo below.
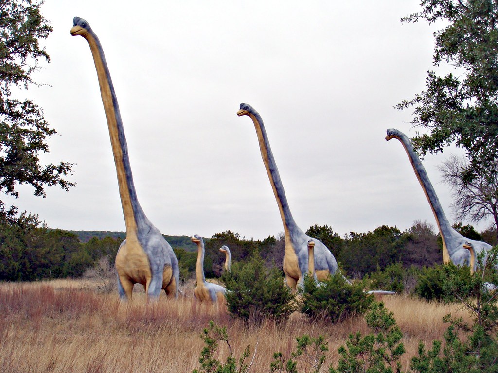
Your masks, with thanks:
<instances>
[{"instance_id":1,"label":"middle large dinosaur statue with a small one before its body","mask_svg":"<svg viewBox=\"0 0 498 373\"><path fill-rule=\"evenodd\" d=\"M310 240L311 237L299 229L292 217L261 116L246 103L241 103L237 115L248 115L254 123L257 138L259 140L261 157L263 158L263 163L268 178L270 179L273 193L275 194L285 233L283 272L287 279L287 285L292 290L296 290L297 284L302 284L304 275L308 270L308 240ZM330 250L318 240L315 240L314 252L316 276L319 280L325 280L329 274L334 274L336 272L336 259Z\"/></svg>"}]
</instances>

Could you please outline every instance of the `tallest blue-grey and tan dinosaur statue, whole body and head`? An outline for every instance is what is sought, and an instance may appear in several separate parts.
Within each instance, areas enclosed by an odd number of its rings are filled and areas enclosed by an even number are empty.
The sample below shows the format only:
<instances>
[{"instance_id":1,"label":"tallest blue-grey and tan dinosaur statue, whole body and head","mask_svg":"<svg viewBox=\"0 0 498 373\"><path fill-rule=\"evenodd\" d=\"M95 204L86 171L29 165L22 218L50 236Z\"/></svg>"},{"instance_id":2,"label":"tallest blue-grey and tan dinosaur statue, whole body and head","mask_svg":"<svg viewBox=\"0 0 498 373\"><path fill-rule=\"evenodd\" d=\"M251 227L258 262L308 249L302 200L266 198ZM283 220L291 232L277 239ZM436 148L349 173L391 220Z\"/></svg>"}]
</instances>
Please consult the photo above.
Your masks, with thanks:
<instances>
[{"instance_id":1,"label":"tallest blue-grey and tan dinosaur statue, whole body and head","mask_svg":"<svg viewBox=\"0 0 498 373\"><path fill-rule=\"evenodd\" d=\"M166 291L168 297L176 298L178 296L178 261L171 246L147 219L138 203L118 100L102 45L84 19L74 17L74 26L70 32L73 36L83 36L90 45L111 136L126 225L126 239L116 255L120 297L131 299L133 285L140 283L145 288L147 298L157 299L161 289Z\"/></svg>"}]
</instances>

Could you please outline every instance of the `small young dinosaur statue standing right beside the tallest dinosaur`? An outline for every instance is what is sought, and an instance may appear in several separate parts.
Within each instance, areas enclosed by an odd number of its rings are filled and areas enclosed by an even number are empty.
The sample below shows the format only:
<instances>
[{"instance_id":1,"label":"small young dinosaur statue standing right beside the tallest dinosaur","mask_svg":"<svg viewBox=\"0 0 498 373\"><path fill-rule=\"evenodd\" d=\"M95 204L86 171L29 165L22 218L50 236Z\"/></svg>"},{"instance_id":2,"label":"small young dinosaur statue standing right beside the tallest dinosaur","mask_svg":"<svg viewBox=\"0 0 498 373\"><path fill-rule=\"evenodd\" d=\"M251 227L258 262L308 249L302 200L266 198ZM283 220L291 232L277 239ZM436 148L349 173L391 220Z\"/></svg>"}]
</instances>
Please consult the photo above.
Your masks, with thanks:
<instances>
[{"instance_id":1,"label":"small young dinosaur statue standing right beside the tallest dinosaur","mask_svg":"<svg viewBox=\"0 0 498 373\"><path fill-rule=\"evenodd\" d=\"M216 303L224 300L227 289L216 283L206 281L204 277L204 240L201 236L195 234L191 241L197 244L197 263L195 266L197 285L194 288L194 296L201 302L211 301Z\"/></svg>"}]
</instances>

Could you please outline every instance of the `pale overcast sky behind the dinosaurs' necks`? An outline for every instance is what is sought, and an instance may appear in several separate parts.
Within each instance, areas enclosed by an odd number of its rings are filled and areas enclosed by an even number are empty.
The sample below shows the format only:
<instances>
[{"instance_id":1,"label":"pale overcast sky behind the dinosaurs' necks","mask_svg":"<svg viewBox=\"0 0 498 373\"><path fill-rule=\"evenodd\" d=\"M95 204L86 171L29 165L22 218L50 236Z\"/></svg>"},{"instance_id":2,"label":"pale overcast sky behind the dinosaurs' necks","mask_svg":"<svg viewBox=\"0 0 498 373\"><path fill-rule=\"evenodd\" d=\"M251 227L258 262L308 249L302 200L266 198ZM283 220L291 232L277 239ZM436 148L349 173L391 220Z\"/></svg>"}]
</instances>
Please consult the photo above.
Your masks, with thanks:
<instances>
[{"instance_id":1,"label":"pale overcast sky behind the dinosaurs' necks","mask_svg":"<svg viewBox=\"0 0 498 373\"><path fill-rule=\"evenodd\" d=\"M172 1L46 0L51 63L28 96L58 134L44 162L74 163L64 192L21 187L20 210L50 228L124 231L116 169L88 43L103 45L121 108L139 202L164 234L211 237L231 230L263 239L283 231L254 126L262 116L297 224L340 235L380 225L435 224L394 127L422 128L393 108L425 87L433 26L402 24L419 0ZM453 221L449 188L423 164ZM486 228L486 223L478 226Z\"/></svg>"}]
</instances>

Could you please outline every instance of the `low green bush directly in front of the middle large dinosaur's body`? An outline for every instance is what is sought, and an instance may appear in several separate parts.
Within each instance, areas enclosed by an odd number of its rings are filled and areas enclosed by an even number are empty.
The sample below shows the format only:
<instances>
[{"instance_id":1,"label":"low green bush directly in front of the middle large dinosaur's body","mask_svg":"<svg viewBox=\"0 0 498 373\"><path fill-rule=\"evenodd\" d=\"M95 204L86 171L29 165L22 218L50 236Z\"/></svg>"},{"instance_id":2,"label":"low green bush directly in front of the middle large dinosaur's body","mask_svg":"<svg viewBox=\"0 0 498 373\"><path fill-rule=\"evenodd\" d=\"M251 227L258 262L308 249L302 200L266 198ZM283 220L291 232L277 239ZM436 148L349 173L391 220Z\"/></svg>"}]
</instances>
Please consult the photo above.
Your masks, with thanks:
<instances>
[{"instance_id":1,"label":"low green bush directly in front of the middle large dinosaur's body","mask_svg":"<svg viewBox=\"0 0 498 373\"><path fill-rule=\"evenodd\" d=\"M363 315L373 301L373 295L366 294L363 285L363 281L349 284L340 271L319 285L306 275L299 291L300 310L308 317L328 317L332 322Z\"/></svg>"}]
</instances>

